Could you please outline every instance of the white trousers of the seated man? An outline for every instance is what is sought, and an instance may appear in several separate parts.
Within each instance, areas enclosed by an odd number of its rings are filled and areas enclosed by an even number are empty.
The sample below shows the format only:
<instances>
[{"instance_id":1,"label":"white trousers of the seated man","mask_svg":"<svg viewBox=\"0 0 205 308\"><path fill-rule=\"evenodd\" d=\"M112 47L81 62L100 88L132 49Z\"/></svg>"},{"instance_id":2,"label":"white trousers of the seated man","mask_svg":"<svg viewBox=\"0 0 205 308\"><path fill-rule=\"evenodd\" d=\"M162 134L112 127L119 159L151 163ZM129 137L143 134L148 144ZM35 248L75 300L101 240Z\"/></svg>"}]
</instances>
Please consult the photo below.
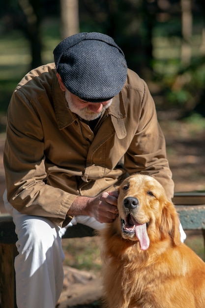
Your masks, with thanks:
<instances>
[{"instance_id":1,"label":"white trousers of the seated man","mask_svg":"<svg viewBox=\"0 0 205 308\"><path fill-rule=\"evenodd\" d=\"M64 253L61 236L77 222L100 230L104 224L92 217L77 216L60 228L49 219L16 211L3 196L5 209L13 216L19 254L15 258L18 308L55 308L62 291Z\"/></svg>"}]
</instances>

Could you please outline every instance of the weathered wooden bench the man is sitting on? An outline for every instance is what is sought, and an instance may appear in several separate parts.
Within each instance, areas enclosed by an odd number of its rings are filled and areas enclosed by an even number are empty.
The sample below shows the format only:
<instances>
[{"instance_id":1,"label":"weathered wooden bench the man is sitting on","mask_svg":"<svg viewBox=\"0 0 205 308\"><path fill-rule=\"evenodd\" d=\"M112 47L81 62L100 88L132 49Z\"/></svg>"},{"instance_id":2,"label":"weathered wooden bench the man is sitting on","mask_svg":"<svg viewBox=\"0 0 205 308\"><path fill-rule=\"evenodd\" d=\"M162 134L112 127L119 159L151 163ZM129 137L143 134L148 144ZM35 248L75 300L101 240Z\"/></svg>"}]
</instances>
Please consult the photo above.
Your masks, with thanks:
<instances>
[{"instance_id":1,"label":"weathered wooden bench the man is sitting on","mask_svg":"<svg viewBox=\"0 0 205 308\"><path fill-rule=\"evenodd\" d=\"M176 206L184 230L202 230L205 239L205 205ZM0 308L17 308L15 296L14 258L17 236L12 217L0 215ZM67 229L63 238L94 236L94 230L77 224Z\"/></svg>"}]
</instances>

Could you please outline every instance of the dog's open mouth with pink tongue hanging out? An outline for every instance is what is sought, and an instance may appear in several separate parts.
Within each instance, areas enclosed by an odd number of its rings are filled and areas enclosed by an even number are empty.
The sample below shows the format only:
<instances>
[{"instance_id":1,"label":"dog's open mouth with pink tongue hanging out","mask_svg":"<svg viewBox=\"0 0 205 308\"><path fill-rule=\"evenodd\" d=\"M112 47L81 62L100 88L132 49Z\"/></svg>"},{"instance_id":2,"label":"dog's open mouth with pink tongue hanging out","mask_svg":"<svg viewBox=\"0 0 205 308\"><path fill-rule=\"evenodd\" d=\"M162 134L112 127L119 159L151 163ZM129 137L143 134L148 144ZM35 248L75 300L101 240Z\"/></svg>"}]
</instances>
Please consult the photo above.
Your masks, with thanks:
<instances>
[{"instance_id":1,"label":"dog's open mouth with pink tongue hanging out","mask_svg":"<svg viewBox=\"0 0 205 308\"><path fill-rule=\"evenodd\" d=\"M122 233L128 237L136 235L140 242L141 250L146 250L149 247L149 238L146 230L148 225L149 222L143 224L137 222L130 214L125 219L121 219Z\"/></svg>"}]
</instances>

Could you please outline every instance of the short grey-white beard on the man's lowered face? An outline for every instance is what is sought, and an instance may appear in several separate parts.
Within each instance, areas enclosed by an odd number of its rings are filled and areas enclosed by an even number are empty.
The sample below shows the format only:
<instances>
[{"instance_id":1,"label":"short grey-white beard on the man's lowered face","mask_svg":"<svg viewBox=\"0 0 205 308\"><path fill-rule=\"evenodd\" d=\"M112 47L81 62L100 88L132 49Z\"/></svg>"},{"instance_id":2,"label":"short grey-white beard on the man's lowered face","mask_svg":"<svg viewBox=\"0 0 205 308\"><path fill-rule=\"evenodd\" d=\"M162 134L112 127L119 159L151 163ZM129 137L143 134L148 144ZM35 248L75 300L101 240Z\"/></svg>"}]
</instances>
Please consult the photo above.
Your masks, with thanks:
<instances>
[{"instance_id":1,"label":"short grey-white beard on the man's lowered face","mask_svg":"<svg viewBox=\"0 0 205 308\"><path fill-rule=\"evenodd\" d=\"M75 103L73 103L73 100L70 96L70 93L67 92L67 91L65 92L65 99L67 101L67 106L70 109L70 111L77 114L80 118L82 118L83 120L86 120L86 121L92 121L92 120L99 118L101 116L101 114L103 114L104 111L111 105L112 100L113 100L113 99L111 99L107 105L103 106L103 108L100 112L95 113L95 112L89 110L88 107L85 107L85 108L82 108L82 109L77 108L75 106Z\"/></svg>"}]
</instances>

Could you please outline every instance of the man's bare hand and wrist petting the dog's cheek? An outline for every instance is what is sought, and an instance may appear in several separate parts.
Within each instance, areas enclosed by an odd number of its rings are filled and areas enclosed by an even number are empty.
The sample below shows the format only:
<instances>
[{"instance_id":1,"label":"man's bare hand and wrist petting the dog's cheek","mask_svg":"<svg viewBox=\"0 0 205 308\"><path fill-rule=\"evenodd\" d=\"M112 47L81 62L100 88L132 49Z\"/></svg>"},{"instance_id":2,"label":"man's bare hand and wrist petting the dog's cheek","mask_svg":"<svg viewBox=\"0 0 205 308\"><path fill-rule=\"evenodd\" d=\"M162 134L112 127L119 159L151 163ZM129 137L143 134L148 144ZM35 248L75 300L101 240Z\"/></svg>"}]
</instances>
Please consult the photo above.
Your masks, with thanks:
<instances>
[{"instance_id":1,"label":"man's bare hand and wrist petting the dog's cheek","mask_svg":"<svg viewBox=\"0 0 205 308\"><path fill-rule=\"evenodd\" d=\"M94 217L99 222L112 222L117 211L117 191L106 191L96 197L77 196L67 215L85 215Z\"/></svg>"}]
</instances>

